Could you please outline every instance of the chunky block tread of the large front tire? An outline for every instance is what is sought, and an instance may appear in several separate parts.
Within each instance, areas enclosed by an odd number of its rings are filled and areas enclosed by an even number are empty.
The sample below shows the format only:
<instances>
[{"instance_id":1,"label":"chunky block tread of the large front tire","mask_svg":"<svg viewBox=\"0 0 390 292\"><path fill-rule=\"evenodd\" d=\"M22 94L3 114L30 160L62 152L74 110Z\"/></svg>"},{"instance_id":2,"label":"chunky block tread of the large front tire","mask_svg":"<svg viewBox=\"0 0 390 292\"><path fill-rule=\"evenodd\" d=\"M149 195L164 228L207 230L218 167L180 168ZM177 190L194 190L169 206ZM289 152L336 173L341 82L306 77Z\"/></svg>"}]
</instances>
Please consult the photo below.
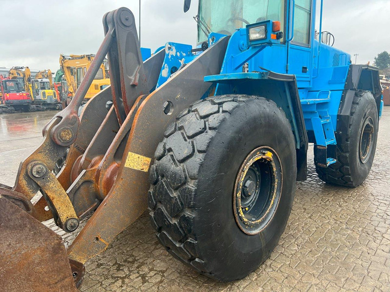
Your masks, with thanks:
<instances>
[{"instance_id":1,"label":"chunky block tread of the large front tire","mask_svg":"<svg viewBox=\"0 0 390 292\"><path fill-rule=\"evenodd\" d=\"M150 172L149 214L158 241L176 259L211 277L213 274L199 256L197 239L192 232L197 173L218 127L240 103L253 99L266 100L247 95L222 95L198 101L183 110L165 131ZM274 104L271 100L267 102ZM184 144L192 145L192 150L178 146ZM164 191L161 184L166 187Z\"/></svg>"}]
</instances>

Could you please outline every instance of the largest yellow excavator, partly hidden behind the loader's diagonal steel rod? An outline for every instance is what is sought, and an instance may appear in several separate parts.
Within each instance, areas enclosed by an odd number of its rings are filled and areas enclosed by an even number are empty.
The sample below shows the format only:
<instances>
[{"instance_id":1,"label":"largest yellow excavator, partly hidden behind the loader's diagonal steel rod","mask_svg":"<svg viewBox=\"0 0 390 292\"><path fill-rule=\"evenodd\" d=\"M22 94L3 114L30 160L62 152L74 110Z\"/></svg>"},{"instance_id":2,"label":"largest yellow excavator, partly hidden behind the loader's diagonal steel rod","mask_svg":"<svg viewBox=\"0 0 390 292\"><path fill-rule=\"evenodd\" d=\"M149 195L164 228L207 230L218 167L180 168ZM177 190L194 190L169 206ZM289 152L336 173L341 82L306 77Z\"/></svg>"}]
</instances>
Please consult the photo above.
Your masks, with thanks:
<instances>
[{"instance_id":1,"label":"largest yellow excavator, partly hidden behind the loader's diagonal steel rod","mask_svg":"<svg viewBox=\"0 0 390 292\"><path fill-rule=\"evenodd\" d=\"M69 95L71 97L74 96L80 86L81 81L91 66L94 58L95 55L59 55L59 64L65 80L68 83ZM108 76L108 61L107 59L104 59L85 95L85 101L88 101L91 97L109 85L110 78Z\"/></svg>"}]
</instances>

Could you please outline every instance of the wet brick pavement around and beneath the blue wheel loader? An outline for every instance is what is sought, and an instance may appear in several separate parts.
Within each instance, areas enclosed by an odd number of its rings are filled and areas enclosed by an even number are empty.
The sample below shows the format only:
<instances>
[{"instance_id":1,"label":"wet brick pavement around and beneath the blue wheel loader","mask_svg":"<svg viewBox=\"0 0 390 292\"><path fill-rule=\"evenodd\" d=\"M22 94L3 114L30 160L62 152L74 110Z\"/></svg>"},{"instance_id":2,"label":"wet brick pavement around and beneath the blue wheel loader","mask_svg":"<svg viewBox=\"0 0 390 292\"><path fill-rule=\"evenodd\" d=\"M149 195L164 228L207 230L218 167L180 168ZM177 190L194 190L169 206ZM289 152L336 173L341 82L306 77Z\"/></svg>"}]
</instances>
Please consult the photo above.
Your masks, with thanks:
<instances>
[{"instance_id":1,"label":"wet brick pavement around and beneath the blue wheel loader","mask_svg":"<svg viewBox=\"0 0 390 292\"><path fill-rule=\"evenodd\" d=\"M54 111L0 115L1 183L14 184L20 159L39 145ZM107 251L86 263L80 288L92 291L390 291L390 107L380 122L368 179L358 188L322 183L312 163L297 183L279 245L254 273L233 283L197 274L160 246L147 212ZM53 221L45 223L55 227ZM74 236L60 233L69 244Z\"/></svg>"}]
</instances>

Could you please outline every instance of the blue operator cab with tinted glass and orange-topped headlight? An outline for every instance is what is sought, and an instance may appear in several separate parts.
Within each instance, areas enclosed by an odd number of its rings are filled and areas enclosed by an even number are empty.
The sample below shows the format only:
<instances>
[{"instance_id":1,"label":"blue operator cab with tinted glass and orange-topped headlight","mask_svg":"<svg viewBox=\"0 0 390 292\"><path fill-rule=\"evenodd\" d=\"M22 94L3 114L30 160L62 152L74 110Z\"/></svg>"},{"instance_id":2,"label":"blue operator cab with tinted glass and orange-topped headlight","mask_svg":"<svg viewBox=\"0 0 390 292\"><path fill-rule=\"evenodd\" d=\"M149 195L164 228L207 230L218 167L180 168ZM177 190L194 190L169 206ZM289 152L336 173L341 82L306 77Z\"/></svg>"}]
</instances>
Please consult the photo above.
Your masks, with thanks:
<instances>
[{"instance_id":1,"label":"blue operator cab with tinted glass and orange-topped headlight","mask_svg":"<svg viewBox=\"0 0 390 292\"><path fill-rule=\"evenodd\" d=\"M190 2L185 0L184 10L189 9ZM212 33L217 37L232 36L226 61L232 56L234 63L235 55L245 53L248 55L246 72L264 69L293 74L298 88L310 88L320 63L315 15L315 0L224 0L223 4L220 0L199 0L195 17L197 41L198 45L208 41ZM321 31L322 18L318 24ZM234 47L233 43L239 46ZM332 45L329 35L322 35L321 43L321 47ZM334 48L326 51L326 54L336 55L339 62L333 64L326 56L327 63L321 64L322 67L349 65L349 55ZM237 66L229 73L244 72L244 64L234 64Z\"/></svg>"}]
</instances>

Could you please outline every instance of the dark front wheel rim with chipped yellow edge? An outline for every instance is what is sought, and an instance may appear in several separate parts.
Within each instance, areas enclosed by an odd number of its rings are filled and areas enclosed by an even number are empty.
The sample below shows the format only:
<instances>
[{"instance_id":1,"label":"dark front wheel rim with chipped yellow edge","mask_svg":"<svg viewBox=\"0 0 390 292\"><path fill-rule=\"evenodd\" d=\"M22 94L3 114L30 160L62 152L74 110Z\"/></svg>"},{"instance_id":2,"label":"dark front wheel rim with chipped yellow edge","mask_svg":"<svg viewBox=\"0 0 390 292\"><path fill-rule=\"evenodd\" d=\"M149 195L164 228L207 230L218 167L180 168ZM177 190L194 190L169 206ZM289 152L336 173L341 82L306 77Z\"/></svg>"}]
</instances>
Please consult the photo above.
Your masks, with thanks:
<instances>
[{"instance_id":1,"label":"dark front wheel rim with chipped yellow edge","mask_svg":"<svg viewBox=\"0 0 390 292\"><path fill-rule=\"evenodd\" d=\"M246 234L260 233L271 221L280 201L282 166L276 151L258 147L238 171L234 185L234 217Z\"/></svg>"}]
</instances>

